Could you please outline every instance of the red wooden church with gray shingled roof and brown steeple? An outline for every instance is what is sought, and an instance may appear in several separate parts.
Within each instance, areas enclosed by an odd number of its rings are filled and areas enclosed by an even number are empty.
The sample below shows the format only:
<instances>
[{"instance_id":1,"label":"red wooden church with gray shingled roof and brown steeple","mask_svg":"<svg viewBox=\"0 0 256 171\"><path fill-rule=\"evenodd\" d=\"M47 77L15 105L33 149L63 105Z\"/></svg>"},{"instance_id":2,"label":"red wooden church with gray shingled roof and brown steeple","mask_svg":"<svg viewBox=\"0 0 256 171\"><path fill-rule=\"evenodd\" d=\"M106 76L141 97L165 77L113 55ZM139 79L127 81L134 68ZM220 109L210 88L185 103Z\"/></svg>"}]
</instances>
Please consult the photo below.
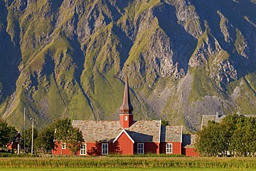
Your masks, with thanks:
<instances>
[{"instance_id":1,"label":"red wooden church with gray shingled roof and brown steeple","mask_svg":"<svg viewBox=\"0 0 256 171\"><path fill-rule=\"evenodd\" d=\"M73 121L73 127L79 128L84 138L77 155L164 153L199 156L194 148L187 152L186 146L191 146L193 142L183 143L182 125L165 126L161 125L161 121L134 121L132 110L126 79L120 121ZM62 142L53 150L53 154L71 152L66 148L66 143Z\"/></svg>"}]
</instances>

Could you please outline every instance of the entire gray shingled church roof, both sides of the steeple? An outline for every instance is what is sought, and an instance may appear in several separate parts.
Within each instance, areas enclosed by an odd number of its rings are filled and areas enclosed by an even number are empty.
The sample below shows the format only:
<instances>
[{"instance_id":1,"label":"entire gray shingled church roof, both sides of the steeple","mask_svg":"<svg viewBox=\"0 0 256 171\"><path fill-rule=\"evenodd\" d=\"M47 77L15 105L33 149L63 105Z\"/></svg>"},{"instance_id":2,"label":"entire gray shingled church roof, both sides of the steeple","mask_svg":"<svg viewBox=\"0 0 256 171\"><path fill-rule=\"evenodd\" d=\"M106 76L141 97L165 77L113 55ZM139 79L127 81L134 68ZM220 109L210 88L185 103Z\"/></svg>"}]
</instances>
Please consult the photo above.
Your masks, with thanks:
<instances>
[{"instance_id":1,"label":"entire gray shingled church roof, both sides of the steeple","mask_svg":"<svg viewBox=\"0 0 256 171\"><path fill-rule=\"evenodd\" d=\"M113 142L123 130L120 121L73 121L80 128L85 142ZM134 121L127 134L135 142L181 142L181 126L161 126L161 121Z\"/></svg>"}]
</instances>

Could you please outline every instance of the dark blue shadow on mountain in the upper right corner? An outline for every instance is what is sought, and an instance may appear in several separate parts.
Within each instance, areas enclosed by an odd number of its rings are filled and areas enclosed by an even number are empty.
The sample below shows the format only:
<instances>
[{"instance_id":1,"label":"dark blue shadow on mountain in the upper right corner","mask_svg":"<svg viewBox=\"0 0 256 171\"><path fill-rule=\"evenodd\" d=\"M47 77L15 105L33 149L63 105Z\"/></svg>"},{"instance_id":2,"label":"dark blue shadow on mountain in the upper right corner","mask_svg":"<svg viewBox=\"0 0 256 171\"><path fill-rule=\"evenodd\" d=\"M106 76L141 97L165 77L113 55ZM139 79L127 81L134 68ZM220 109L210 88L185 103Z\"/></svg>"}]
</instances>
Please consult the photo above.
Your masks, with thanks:
<instances>
[{"instance_id":1,"label":"dark blue shadow on mountain in the upper right corner","mask_svg":"<svg viewBox=\"0 0 256 171\"><path fill-rule=\"evenodd\" d=\"M191 3L200 16L201 28L204 28L203 23L207 21L213 36L219 41L221 48L230 54L230 59L237 70L237 79L244 77L250 72L255 72L256 57L252 54L256 54L256 49L246 48L248 57L243 57L237 53L235 41L237 39L236 28L238 28L244 36L247 47L255 46L256 40L253 39L253 37L256 37L256 27L246 21L244 17L249 17L250 21L256 23L256 5L250 2L250 0L192 0ZM217 13L218 11L228 19L227 25L230 34L230 42L224 40L223 33L219 26L221 19Z\"/></svg>"}]
</instances>

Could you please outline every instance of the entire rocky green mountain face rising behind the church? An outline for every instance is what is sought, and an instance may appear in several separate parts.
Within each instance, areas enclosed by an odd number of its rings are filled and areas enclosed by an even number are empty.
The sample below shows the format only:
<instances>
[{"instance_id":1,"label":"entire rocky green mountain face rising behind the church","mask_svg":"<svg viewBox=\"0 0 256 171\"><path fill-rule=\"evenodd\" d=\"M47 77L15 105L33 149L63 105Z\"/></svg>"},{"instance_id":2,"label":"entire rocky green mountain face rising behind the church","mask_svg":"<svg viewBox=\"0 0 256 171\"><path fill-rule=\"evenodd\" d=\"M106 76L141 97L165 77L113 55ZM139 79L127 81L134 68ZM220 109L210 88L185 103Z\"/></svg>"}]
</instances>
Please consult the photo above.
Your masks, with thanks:
<instances>
[{"instance_id":1,"label":"entire rocky green mountain face rising behind the church","mask_svg":"<svg viewBox=\"0 0 256 171\"><path fill-rule=\"evenodd\" d=\"M0 1L0 116L135 119L198 130L203 114L256 114L255 0Z\"/></svg>"}]
</instances>

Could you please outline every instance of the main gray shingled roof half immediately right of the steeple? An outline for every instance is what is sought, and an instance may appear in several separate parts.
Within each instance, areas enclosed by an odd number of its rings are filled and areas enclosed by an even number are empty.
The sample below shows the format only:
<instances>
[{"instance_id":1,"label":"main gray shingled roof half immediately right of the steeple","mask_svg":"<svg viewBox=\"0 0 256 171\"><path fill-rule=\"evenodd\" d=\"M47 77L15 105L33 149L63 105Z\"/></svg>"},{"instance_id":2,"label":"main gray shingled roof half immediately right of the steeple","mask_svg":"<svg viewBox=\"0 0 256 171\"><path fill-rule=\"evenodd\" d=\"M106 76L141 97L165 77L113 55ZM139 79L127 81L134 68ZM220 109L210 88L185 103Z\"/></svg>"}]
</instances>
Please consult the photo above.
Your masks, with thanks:
<instances>
[{"instance_id":1,"label":"main gray shingled roof half immediately right of the steeple","mask_svg":"<svg viewBox=\"0 0 256 171\"><path fill-rule=\"evenodd\" d=\"M135 121L125 129L135 142L159 142L161 121Z\"/></svg>"}]
</instances>

